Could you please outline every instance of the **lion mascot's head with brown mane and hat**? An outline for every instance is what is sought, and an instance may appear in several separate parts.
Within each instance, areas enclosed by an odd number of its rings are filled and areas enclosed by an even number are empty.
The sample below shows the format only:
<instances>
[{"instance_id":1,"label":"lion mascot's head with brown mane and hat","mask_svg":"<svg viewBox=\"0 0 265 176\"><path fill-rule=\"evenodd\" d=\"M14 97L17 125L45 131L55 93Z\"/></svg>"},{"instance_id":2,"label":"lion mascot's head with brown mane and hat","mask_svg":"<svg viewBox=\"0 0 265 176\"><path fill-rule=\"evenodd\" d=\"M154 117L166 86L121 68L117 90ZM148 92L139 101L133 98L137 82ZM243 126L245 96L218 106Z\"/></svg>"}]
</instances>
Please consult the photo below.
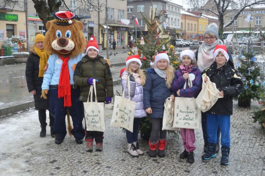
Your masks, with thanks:
<instances>
[{"instance_id":1,"label":"lion mascot's head with brown mane and hat","mask_svg":"<svg viewBox=\"0 0 265 176\"><path fill-rule=\"evenodd\" d=\"M51 54L69 55L75 57L83 53L86 47L83 24L73 20L75 15L69 11L54 14L55 20L48 21L44 46Z\"/></svg>"}]
</instances>

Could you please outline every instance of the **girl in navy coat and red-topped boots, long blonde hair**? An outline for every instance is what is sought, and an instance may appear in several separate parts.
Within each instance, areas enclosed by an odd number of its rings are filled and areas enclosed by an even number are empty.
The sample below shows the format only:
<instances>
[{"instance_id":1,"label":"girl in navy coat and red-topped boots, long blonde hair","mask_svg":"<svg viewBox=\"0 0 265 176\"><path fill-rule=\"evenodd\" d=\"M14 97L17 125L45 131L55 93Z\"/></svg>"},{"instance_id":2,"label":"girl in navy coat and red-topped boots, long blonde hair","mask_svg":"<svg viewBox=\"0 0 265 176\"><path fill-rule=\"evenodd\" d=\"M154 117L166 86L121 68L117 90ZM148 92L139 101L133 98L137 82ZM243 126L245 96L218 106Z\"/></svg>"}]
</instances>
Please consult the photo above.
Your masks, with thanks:
<instances>
[{"instance_id":1,"label":"girl in navy coat and red-topped boots, long blonde hair","mask_svg":"<svg viewBox=\"0 0 265 176\"><path fill-rule=\"evenodd\" d=\"M147 68L146 83L144 86L144 108L152 122L152 131L149 140L149 156L165 157L166 130L162 130L164 102L168 97L175 99L175 93L170 90L174 79L175 69L170 66L169 57L165 51L159 52L150 63L153 68Z\"/></svg>"}]
</instances>

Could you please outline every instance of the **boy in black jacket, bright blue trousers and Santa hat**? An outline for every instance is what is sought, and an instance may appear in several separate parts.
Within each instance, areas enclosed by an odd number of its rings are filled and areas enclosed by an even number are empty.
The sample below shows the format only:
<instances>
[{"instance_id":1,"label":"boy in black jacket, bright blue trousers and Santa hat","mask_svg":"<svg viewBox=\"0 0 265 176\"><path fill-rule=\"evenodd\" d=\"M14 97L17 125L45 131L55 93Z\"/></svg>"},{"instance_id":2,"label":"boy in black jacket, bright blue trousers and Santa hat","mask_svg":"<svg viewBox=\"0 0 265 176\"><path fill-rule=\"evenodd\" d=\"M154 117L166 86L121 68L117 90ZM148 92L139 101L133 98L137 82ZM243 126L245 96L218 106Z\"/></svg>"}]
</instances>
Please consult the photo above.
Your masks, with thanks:
<instances>
[{"instance_id":1,"label":"boy in black jacket, bright blue trousers and Santa hat","mask_svg":"<svg viewBox=\"0 0 265 176\"><path fill-rule=\"evenodd\" d=\"M230 116L233 114L233 97L238 96L243 88L240 73L228 64L229 55L226 46L216 45L213 51L214 62L205 70L203 76L208 76L210 81L216 84L220 96L213 107L206 112L206 128L208 133L208 150L202 155L202 159L216 157L216 132L219 126L221 131L220 164L229 164L230 152ZM205 77L205 82L208 78Z\"/></svg>"}]
</instances>

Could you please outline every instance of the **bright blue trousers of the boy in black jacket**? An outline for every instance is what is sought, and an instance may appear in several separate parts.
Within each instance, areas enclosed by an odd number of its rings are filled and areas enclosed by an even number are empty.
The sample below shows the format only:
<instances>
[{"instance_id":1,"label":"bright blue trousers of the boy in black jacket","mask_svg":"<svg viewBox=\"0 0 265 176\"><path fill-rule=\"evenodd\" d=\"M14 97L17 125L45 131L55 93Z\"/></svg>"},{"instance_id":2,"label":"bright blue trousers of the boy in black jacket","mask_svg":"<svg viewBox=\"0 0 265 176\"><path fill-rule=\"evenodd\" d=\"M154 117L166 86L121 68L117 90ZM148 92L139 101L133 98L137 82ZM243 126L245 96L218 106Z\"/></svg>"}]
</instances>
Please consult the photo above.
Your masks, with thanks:
<instances>
[{"instance_id":1,"label":"bright blue trousers of the boy in black jacket","mask_svg":"<svg viewBox=\"0 0 265 176\"><path fill-rule=\"evenodd\" d=\"M213 115L206 114L207 118L207 133L208 142L216 144L217 138L217 128L221 131L221 145L225 147L230 147L230 115Z\"/></svg>"}]
</instances>

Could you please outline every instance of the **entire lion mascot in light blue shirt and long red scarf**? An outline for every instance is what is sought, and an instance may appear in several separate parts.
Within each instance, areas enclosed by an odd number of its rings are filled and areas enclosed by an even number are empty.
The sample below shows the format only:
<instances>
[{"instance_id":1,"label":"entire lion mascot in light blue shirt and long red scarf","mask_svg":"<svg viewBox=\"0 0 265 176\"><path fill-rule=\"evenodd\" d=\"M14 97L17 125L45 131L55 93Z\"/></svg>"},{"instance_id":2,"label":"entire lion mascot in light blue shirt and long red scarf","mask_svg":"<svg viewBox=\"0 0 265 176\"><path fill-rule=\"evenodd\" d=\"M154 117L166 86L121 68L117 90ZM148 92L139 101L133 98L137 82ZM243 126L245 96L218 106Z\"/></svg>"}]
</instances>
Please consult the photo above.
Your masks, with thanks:
<instances>
[{"instance_id":1,"label":"entire lion mascot in light blue shirt and long red scarf","mask_svg":"<svg viewBox=\"0 0 265 176\"><path fill-rule=\"evenodd\" d=\"M74 69L84 56L86 39L83 24L73 20L74 13L60 11L54 14L55 20L48 21L44 46L51 53L45 68L42 95L50 93L51 113L55 117L53 134L55 144L61 144L66 136L65 116L69 110L72 117L72 135L77 144L83 143L85 131L83 103L79 100L80 87L73 82ZM69 121L68 121L69 126Z\"/></svg>"}]
</instances>

